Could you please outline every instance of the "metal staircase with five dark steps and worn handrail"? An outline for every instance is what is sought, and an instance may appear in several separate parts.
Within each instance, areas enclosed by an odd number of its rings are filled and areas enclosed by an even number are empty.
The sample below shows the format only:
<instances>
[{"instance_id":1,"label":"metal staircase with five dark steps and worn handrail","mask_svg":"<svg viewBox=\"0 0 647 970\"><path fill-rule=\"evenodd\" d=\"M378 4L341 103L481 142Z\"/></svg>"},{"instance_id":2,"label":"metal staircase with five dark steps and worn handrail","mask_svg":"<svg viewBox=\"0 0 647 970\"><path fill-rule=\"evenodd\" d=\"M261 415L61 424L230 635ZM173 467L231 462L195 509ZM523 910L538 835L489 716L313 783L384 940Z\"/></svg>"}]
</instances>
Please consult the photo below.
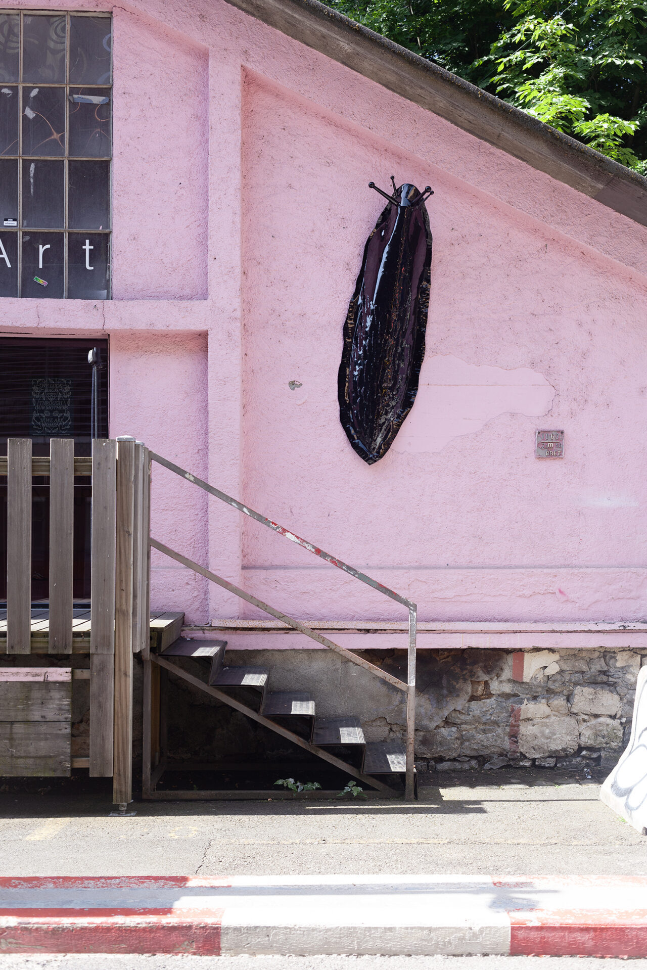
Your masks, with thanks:
<instances>
[{"instance_id":1,"label":"metal staircase with five dark steps and worn handrail","mask_svg":"<svg viewBox=\"0 0 647 970\"><path fill-rule=\"evenodd\" d=\"M150 463L155 462L203 489L210 495L237 508L243 515L272 529L291 542L300 545L308 552L317 556L331 566L336 566L343 572L372 587L373 590L401 603L408 611L408 661L406 683L398 677L358 654L341 647L339 644L323 636L317 630L312 630L306 624L289 617L273 606L253 597L233 583L216 575L205 566L200 566L162 542L150 537L149 547L156 549L170 557L182 566L187 566L199 575L205 576L211 582L237 597L242 598L271 616L275 617L286 627L305 633L310 639L340 654L345 660L355 663L374 676L386 681L393 687L404 692L406 699L406 745L394 742L367 743L360 721L352 716L321 717L316 716L316 699L303 692L273 692L269 690L272 671L267 667L225 665L225 651L227 643L224 640L178 639L159 654L143 653L144 660L144 765L143 792L145 798L157 797L218 797L219 792L165 792L157 789L165 769L165 745L160 738L164 734L164 701L162 695L165 678L174 673L180 679L191 684L194 688L228 704L230 707L244 714L252 721L268 727L293 744L305 749L311 755L329 762L340 770L347 772L373 791L384 796L398 796L382 778L394 784L394 779L404 776L404 796L411 800L415 796L415 768L414 768L414 732L415 732L415 651L416 651L416 614L415 603L383 586L370 576L358 569L348 566L335 556L324 552L313 543L277 525L271 519L253 511L242 502L232 499L208 482L203 481L190 472L180 469L177 465L167 461L159 455L146 449L148 469ZM149 488L148 474L148 488ZM201 663L202 675L196 677L182 665L182 658ZM155 672L154 672L155 671ZM243 692L243 699L242 699ZM157 731L157 742L154 733ZM157 747L156 747L157 744ZM340 757L342 756L342 757ZM221 792L222 795L235 792Z\"/></svg>"}]
</instances>

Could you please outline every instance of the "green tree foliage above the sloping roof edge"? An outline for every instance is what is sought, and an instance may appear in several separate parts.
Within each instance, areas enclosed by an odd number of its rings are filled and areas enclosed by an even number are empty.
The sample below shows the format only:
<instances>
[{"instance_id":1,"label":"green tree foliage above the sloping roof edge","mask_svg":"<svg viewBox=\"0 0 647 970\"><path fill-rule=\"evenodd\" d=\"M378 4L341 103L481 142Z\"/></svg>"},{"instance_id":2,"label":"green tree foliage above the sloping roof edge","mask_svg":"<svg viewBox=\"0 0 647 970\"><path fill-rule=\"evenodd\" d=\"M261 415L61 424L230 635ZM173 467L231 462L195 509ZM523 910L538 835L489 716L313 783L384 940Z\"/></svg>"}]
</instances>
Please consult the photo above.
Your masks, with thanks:
<instances>
[{"instance_id":1,"label":"green tree foliage above the sloping roof edge","mask_svg":"<svg viewBox=\"0 0 647 970\"><path fill-rule=\"evenodd\" d=\"M647 175L647 0L329 0Z\"/></svg>"}]
</instances>

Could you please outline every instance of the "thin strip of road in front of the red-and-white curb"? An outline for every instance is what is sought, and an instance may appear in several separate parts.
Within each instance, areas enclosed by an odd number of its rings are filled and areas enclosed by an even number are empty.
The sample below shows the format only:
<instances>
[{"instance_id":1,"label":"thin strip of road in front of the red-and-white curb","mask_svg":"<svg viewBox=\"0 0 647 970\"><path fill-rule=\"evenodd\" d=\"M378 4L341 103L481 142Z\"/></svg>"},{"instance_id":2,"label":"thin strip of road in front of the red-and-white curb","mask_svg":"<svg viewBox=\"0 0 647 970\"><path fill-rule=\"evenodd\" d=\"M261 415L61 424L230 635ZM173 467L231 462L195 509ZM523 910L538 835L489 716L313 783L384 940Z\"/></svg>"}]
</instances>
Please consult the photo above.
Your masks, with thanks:
<instances>
[{"instance_id":1,"label":"thin strip of road in front of the red-and-white curb","mask_svg":"<svg viewBox=\"0 0 647 970\"><path fill-rule=\"evenodd\" d=\"M2 956L3 970L628 970L589 956Z\"/></svg>"}]
</instances>

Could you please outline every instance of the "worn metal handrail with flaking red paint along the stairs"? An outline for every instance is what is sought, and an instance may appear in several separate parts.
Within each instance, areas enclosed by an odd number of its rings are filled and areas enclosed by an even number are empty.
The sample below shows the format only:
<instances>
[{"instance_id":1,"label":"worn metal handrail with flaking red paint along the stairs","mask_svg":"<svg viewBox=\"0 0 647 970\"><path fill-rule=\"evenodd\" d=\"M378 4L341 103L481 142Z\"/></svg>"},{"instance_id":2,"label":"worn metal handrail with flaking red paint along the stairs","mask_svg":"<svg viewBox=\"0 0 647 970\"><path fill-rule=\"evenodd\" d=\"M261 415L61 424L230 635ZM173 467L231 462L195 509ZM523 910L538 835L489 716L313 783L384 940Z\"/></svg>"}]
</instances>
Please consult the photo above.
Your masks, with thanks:
<instances>
[{"instance_id":1,"label":"worn metal handrail with flaking red paint along the stairs","mask_svg":"<svg viewBox=\"0 0 647 970\"><path fill-rule=\"evenodd\" d=\"M371 576L367 576L366 573L360 572L359 569L355 569L353 566L348 566L337 556L331 556L330 553L324 552L318 546L314 545L312 542L307 542L307 539L303 539L300 535L293 533L291 530L286 529L284 526L279 526L277 523L273 522L272 519L268 519L265 515L261 515L260 512L255 512L252 508L244 505L243 502L232 499L231 496L227 495L225 492L221 492L219 489L214 488L209 482L204 481L202 478L198 478L197 475L192 474L186 469L181 469L178 465L173 462L169 462L166 458L162 458L161 455L155 454L155 452L149 452L150 460L157 462L158 465L163 466L165 469L175 472L180 478L185 478L187 481L198 488L203 489L210 495L214 496L220 501L224 501L226 504L231 505L233 508L237 508L243 515L248 516L250 519L254 519L256 522L260 522L261 525L267 526L268 529L272 529L273 532L284 536L284 538L289 539L290 542L294 542L306 549L307 552L312 553L312 555L317 556L319 559L324 560L326 563L330 563L331 566L337 566L343 572L347 573L349 576L353 576L355 579L359 579L360 582L365 583L367 586L372 587L377 593L381 593L386 597L395 599L396 602L402 603L408 609L408 650L407 650L407 669L406 669L406 684L403 681L398 680L391 674L386 673L384 670L380 670L379 667L375 666L369 661L365 661L361 657L357 657L355 654L351 653L349 650L344 649L339 644L334 643L327 637L322 636L320 633L316 633L314 630L310 630L304 624L300 623L298 620L294 620L292 617L287 616L284 613L280 613L275 610L274 607L270 606L268 603L263 602L261 599L251 596L249 593L245 593L244 590L240 589L238 586L234 586L227 580L223 579L221 576L216 576L215 573L211 572L210 569L206 569L204 566L199 566L192 560L187 559L185 556L180 555L169 546L164 545L162 542L158 542L156 539L150 539L150 545L153 549L157 549L159 552L163 553L165 556L169 556L171 559L175 559L178 563L183 566L187 566L200 575L205 576L210 579L211 582L216 583L223 589L228 590L230 593L235 594L237 597L245 599L247 602L259 607L264 612L269 613L274 616L276 620L280 620L288 627L292 627L294 630L299 630L309 636L310 639L316 640L322 646L327 647L329 650L333 650L336 653L341 654L346 660L351 663L356 663L359 666L370 670L375 676L380 677L382 680L387 681L394 687L398 687L400 690L406 692L406 775L405 775L405 792L404 796L406 799L410 800L413 798L414 792L414 742L415 742L415 666L416 666L416 624L417 624L417 606L410 599L401 597L399 593L390 590L388 586L384 586L382 583L378 583L377 580L372 579Z\"/></svg>"}]
</instances>

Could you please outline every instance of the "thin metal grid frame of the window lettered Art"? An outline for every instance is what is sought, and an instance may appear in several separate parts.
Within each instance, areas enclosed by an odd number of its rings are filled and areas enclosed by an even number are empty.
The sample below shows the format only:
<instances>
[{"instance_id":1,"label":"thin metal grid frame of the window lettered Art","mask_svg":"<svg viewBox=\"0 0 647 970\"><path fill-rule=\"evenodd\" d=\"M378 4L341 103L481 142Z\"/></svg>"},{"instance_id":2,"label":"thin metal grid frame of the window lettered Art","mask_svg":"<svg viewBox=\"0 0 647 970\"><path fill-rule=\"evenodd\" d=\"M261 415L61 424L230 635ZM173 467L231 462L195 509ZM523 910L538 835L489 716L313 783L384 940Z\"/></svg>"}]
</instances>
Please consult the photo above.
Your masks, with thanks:
<instances>
[{"instance_id":1,"label":"thin metal grid frame of the window lettered Art","mask_svg":"<svg viewBox=\"0 0 647 970\"><path fill-rule=\"evenodd\" d=\"M18 81L7 81L6 86L12 86L17 88L18 95L18 146L16 154L0 154L0 159L16 159L17 162L17 176L18 176L18 225L14 229L9 226L0 225L0 232L3 235L7 232L16 233L17 239L17 297L4 297L3 299L41 299L39 297L22 297L22 234L23 233L39 233L46 234L52 233L54 235L59 235L63 237L63 296L54 299L97 299L91 297L69 297L68 296L68 278L69 278L69 237L70 235L81 235L82 233L87 233L88 235L101 235L108 237L107 240L107 267L106 267L106 300L112 299L112 235L113 235L113 15L110 12L104 11L74 11L74 10L42 10L42 9L25 9L21 8L16 10L15 8L0 8L0 14L8 16L19 16L19 55L18 55ZM39 86L34 81L23 81L22 80L22 70L23 70L23 55L24 55L24 17L25 16L65 16L65 81L58 83L41 82L41 87L60 87L65 91L65 151L63 156L49 156L49 155L26 155L22 153L22 116L24 113L23 100L24 100L24 89L29 87ZM110 81L101 84L85 84L79 81L70 81L70 18L73 16L79 17L91 17L99 18L103 17L110 21L111 24L111 45L110 45ZM110 90L110 155L101 156L85 156L85 155L69 155L69 142L70 142L70 90L73 88L82 88L83 91L87 89L88 93L91 93L93 89L96 90ZM38 227L23 228L22 226L22 170L24 161L55 161L60 159L64 165L64 226L60 229L50 229ZM78 229L73 228L68 225L69 223L69 164L70 162L96 162L96 161L107 161L109 163L109 178L108 178L108 211L110 216L110 228L109 229ZM0 213L2 214L2 213ZM47 298L46 298L47 299ZM103 302L103 300L101 301Z\"/></svg>"}]
</instances>

